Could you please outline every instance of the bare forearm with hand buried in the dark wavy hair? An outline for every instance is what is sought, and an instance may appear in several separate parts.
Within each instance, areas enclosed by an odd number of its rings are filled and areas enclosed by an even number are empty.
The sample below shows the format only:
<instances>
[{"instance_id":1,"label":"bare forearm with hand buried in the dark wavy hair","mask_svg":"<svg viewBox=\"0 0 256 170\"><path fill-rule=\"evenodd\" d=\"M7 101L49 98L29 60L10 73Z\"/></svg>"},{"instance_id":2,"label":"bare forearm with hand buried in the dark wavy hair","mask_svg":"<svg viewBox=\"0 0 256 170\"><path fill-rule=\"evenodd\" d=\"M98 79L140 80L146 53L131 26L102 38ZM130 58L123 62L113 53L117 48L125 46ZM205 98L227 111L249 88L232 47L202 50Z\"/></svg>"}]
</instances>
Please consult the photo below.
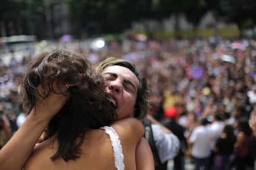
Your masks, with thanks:
<instances>
[{"instance_id":1,"label":"bare forearm with hand buried in the dark wavy hair","mask_svg":"<svg viewBox=\"0 0 256 170\"><path fill-rule=\"evenodd\" d=\"M19 130L0 150L1 169L22 169L50 119L58 113L67 99L62 94L51 94L43 102L38 102L36 109L32 109Z\"/></svg>"}]
</instances>

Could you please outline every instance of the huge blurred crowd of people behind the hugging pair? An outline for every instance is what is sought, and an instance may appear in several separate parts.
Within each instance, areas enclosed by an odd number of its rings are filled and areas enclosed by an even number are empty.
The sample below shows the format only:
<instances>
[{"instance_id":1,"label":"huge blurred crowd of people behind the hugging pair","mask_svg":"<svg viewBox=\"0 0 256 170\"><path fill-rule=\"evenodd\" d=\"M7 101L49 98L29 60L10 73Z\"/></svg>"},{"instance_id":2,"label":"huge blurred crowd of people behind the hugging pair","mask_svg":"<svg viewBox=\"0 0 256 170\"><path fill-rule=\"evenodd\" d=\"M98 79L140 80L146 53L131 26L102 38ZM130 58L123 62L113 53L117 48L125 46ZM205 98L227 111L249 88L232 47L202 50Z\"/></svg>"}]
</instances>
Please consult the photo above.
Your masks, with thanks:
<instances>
[{"instance_id":1,"label":"huge blurred crowd of people behind the hugging pair","mask_svg":"<svg viewBox=\"0 0 256 170\"><path fill-rule=\"evenodd\" d=\"M195 169L254 169L256 41L127 38L96 50L69 43L93 64L111 55L136 65L151 91L149 114L181 142L175 169L184 169L185 157L193 158ZM26 118L20 84L33 57L0 62L0 147Z\"/></svg>"}]
</instances>

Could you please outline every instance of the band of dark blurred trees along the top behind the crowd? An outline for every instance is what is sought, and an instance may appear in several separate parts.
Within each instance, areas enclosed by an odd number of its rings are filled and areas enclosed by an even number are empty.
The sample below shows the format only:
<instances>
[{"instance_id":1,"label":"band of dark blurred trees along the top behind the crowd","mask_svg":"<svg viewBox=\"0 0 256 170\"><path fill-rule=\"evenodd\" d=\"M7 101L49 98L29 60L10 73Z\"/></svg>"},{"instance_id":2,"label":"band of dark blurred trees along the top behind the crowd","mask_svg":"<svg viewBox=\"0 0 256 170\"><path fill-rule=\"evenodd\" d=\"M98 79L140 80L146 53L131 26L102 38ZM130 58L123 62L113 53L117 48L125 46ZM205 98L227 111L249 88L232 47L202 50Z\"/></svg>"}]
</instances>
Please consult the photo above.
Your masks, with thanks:
<instances>
[{"instance_id":1,"label":"band of dark blurred trees along the top behind the crowd","mask_svg":"<svg viewBox=\"0 0 256 170\"><path fill-rule=\"evenodd\" d=\"M36 25L40 22L38 18L47 18L46 8L58 3L56 0L2 0L0 21L7 24L19 20L22 25ZM217 20L236 23L241 32L256 25L255 0L66 0L66 3L73 26L85 29L96 25L93 29L100 31L121 32L134 21L161 21L171 15L179 18L181 14L197 28L208 11L213 12ZM177 33L179 28L175 31Z\"/></svg>"}]
</instances>

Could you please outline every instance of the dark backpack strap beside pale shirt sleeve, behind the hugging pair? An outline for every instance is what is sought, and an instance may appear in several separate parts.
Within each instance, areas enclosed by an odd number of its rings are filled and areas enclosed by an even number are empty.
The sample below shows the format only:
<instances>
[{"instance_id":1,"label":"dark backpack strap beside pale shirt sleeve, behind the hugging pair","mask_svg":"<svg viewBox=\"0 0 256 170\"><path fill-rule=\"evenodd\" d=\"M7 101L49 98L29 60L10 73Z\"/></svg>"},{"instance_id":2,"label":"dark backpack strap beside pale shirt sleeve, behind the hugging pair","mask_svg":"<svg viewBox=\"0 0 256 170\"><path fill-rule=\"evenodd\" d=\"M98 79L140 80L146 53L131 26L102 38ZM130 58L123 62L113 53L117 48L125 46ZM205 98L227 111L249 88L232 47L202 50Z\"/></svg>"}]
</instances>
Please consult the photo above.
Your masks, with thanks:
<instances>
[{"instance_id":1,"label":"dark backpack strap beside pale shirt sleeve, behind the hugging pair","mask_svg":"<svg viewBox=\"0 0 256 170\"><path fill-rule=\"evenodd\" d=\"M158 151L156 149L155 140L152 132L151 122L149 119L143 119L142 123L144 125L144 136L145 139L147 139L148 144L150 145L151 151L153 153L154 161L155 161L155 167L160 166L162 163L160 161Z\"/></svg>"}]
</instances>

